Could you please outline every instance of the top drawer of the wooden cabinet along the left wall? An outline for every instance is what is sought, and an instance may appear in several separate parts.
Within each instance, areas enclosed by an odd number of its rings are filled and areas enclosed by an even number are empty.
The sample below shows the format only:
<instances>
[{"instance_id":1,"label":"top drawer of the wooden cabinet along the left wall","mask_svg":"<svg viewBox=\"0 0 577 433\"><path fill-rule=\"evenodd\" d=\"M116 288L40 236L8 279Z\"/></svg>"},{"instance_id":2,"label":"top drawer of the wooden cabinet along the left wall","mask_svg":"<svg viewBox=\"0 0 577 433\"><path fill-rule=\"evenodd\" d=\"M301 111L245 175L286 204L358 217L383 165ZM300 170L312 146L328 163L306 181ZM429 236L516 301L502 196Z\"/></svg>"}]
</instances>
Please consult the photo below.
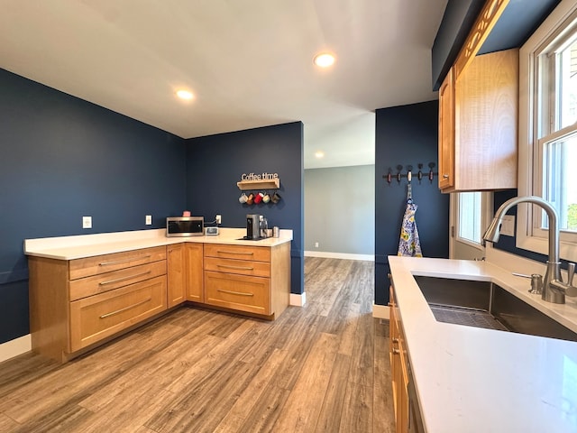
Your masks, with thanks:
<instances>
[{"instance_id":1,"label":"top drawer of the wooden cabinet along the left wall","mask_svg":"<svg viewBox=\"0 0 577 433\"><path fill-rule=\"evenodd\" d=\"M166 260L166 246L71 260L69 263L69 279L76 280L159 260Z\"/></svg>"}]
</instances>

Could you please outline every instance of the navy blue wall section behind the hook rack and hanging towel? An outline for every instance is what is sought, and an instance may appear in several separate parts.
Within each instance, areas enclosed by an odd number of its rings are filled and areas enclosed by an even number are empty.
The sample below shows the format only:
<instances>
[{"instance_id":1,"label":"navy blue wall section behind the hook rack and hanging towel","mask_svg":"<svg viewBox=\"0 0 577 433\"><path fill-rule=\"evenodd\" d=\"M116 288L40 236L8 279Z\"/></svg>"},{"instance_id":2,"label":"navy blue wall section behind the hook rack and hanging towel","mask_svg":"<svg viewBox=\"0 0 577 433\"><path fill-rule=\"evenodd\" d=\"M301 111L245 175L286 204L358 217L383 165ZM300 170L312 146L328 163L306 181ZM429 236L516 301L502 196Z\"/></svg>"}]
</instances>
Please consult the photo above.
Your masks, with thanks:
<instances>
[{"instance_id":1,"label":"navy blue wall section behind the hook rack and hanging towel","mask_svg":"<svg viewBox=\"0 0 577 433\"><path fill-rule=\"evenodd\" d=\"M400 223L407 205L407 179L389 185L383 174L408 165L417 173L417 164L428 171L437 164L438 102L382 108L376 112L375 134L375 304L389 302L388 255L396 255ZM438 164L437 164L438 165ZM435 166L435 171L437 166ZM413 200L417 204L417 228L425 257L449 256L449 195L441 194L438 179L413 177Z\"/></svg>"}]
</instances>

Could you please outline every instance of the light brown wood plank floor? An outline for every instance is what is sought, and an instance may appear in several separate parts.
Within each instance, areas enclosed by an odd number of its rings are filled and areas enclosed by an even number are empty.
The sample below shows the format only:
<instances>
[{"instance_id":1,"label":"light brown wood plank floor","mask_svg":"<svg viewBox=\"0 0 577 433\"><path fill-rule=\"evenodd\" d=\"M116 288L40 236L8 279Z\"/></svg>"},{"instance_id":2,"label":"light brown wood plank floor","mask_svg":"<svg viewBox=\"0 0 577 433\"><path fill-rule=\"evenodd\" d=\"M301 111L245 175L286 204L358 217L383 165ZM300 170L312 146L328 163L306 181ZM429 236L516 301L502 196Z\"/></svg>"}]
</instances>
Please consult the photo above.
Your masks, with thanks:
<instances>
[{"instance_id":1,"label":"light brown wood plank floor","mask_svg":"<svg viewBox=\"0 0 577 433\"><path fill-rule=\"evenodd\" d=\"M0 364L0 432L391 432L373 263L307 258L274 322L181 308L87 355Z\"/></svg>"}]
</instances>

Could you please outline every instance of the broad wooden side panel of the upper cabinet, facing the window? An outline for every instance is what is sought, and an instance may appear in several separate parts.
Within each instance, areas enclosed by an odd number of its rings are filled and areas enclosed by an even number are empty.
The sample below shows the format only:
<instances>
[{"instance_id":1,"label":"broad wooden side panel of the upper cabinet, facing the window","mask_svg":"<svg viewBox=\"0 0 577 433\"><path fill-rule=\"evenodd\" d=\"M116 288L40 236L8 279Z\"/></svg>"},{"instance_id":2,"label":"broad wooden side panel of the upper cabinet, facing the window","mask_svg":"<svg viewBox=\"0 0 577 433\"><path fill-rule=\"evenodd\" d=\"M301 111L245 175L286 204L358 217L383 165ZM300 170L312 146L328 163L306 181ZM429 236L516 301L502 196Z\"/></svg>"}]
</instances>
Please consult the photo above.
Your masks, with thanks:
<instances>
[{"instance_id":1,"label":"broad wooden side panel of the upper cabinet, facing the window","mask_svg":"<svg viewBox=\"0 0 577 433\"><path fill-rule=\"evenodd\" d=\"M518 50L477 56L454 83L456 191L517 188Z\"/></svg>"}]
</instances>

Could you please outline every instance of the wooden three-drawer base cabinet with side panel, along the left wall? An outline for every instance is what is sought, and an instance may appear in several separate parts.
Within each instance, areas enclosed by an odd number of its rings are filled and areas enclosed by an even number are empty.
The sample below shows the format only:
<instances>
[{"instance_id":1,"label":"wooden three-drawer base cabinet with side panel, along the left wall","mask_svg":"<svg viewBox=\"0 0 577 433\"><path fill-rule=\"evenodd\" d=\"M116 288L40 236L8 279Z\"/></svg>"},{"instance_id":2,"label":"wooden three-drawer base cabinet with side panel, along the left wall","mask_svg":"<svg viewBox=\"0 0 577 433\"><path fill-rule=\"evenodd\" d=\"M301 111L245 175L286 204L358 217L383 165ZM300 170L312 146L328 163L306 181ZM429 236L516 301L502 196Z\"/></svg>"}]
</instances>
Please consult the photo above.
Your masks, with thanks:
<instances>
[{"instance_id":1,"label":"wooden three-drawer base cabinet with side panel, along the left wall","mask_svg":"<svg viewBox=\"0 0 577 433\"><path fill-rule=\"evenodd\" d=\"M167 309L166 247L29 257L32 350L59 362Z\"/></svg>"}]
</instances>

